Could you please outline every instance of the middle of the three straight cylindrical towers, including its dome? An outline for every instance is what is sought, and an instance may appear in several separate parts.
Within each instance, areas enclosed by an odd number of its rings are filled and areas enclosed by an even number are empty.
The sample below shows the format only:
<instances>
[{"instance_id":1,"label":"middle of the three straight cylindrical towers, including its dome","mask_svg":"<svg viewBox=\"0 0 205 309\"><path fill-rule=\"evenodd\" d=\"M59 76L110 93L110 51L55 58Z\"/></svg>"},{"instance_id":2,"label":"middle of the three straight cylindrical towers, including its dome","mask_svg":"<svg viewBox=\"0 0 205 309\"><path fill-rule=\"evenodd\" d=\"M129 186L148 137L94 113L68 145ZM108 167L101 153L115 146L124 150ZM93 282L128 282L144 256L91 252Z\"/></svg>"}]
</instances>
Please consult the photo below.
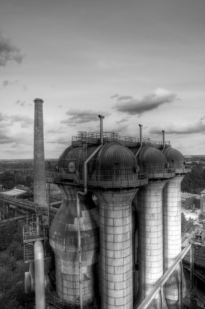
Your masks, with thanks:
<instances>
[{"instance_id":1,"label":"middle of the three straight cylindrical towers, including its dome","mask_svg":"<svg viewBox=\"0 0 205 309\"><path fill-rule=\"evenodd\" d=\"M148 171L149 183L137 192L139 289L134 309L163 275L162 189L166 179L174 176L166 169L166 157L150 145L141 148L138 163ZM158 295L148 308L166 308L164 295Z\"/></svg>"}]
</instances>

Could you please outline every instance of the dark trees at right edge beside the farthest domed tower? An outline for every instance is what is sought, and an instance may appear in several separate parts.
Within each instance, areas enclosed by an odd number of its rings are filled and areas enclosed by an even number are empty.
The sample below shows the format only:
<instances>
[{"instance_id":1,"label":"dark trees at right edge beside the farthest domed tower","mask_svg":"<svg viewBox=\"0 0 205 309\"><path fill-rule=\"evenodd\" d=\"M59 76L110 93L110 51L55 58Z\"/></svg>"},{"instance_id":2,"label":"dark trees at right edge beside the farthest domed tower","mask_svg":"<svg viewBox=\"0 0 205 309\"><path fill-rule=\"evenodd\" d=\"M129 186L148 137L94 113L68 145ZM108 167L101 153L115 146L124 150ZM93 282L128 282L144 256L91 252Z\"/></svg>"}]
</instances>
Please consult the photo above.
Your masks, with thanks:
<instances>
[{"instance_id":1,"label":"dark trees at right edge beside the farthest domed tower","mask_svg":"<svg viewBox=\"0 0 205 309\"><path fill-rule=\"evenodd\" d=\"M202 163L192 162L191 173L184 176L181 183L181 190L188 193L199 194L205 189L205 169Z\"/></svg>"}]
</instances>

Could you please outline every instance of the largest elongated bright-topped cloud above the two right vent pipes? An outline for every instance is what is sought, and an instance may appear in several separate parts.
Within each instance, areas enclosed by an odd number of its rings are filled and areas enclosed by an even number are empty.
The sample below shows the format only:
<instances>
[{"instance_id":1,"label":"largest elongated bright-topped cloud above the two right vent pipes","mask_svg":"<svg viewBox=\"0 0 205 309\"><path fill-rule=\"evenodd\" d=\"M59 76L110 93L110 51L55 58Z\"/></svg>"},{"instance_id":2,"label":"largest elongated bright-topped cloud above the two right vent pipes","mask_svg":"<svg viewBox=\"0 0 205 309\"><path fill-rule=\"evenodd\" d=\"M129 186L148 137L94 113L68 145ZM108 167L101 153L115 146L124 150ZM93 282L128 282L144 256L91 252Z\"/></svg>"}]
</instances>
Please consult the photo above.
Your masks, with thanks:
<instances>
[{"instance_id":1,"label":"largest elongated bright-topped cloud above the two right vent pipes","mask_svg":"<svg viewBox=\"0 0 205 309\"><path fill-rule=\"evenodd\" d=\"M177 100L177 95L164 88L157 88L147 95L143 95L140 100L133 99L132 96L120 96L114 106L118 112L125 112L129 115L139 115L158 108L165 103ZM179 99L178 99L179 100Z\"/></svg>"}]
</instances>

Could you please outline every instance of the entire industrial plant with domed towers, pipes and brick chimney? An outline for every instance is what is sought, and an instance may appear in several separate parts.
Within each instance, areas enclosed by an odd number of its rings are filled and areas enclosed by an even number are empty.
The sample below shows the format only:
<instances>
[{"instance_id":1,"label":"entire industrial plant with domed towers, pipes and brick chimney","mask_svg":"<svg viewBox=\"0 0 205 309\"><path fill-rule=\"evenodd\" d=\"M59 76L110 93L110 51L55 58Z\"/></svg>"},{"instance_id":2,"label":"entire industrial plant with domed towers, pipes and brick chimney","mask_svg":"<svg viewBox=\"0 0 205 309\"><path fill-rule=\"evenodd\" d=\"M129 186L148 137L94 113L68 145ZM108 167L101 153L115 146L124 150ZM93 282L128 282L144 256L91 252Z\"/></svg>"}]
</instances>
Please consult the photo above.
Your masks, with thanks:
<instances>
[{"instance_id":1,"label":"entire industrial plant with domed towers, pipes and brick chimney","mask_svg":"<svg viewBox=\"0 0 205 309\"><path fill-rule=\"evenodd\" d=\"M161 142L143 138L142 125L138 138L103 132L98 115L100 132L78 132L45 173L43 100L34 102L36 216L23 237L34 254L25 291L35 290L36 309L181 309L180 184L191 171L183 155L164 131ZM46 182L64 197L53 216Z\"/></svg>"}]
</instances>

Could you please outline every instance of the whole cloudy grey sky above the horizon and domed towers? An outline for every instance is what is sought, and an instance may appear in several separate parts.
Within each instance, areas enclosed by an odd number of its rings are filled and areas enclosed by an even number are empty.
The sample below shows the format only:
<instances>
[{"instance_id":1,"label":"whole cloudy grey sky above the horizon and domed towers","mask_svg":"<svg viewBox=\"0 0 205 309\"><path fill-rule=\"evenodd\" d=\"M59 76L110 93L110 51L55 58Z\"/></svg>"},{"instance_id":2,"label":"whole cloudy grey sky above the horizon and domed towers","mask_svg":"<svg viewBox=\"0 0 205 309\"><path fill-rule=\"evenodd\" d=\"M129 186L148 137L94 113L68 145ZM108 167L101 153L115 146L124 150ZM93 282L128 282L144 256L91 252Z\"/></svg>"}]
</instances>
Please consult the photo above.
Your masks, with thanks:
<instances>
[{"instance_id":1,"label":"whole cloudy grey sky above the horizon and domed towers","mask_svg":"<svg viewBox=\"0 0 205 309\"><path fill-rule=\"evenodd\" d=\"M204 0L1 0L0 159L45 158L79 131L165 140L205 155Z\"/></svg>"}]
</instances>

